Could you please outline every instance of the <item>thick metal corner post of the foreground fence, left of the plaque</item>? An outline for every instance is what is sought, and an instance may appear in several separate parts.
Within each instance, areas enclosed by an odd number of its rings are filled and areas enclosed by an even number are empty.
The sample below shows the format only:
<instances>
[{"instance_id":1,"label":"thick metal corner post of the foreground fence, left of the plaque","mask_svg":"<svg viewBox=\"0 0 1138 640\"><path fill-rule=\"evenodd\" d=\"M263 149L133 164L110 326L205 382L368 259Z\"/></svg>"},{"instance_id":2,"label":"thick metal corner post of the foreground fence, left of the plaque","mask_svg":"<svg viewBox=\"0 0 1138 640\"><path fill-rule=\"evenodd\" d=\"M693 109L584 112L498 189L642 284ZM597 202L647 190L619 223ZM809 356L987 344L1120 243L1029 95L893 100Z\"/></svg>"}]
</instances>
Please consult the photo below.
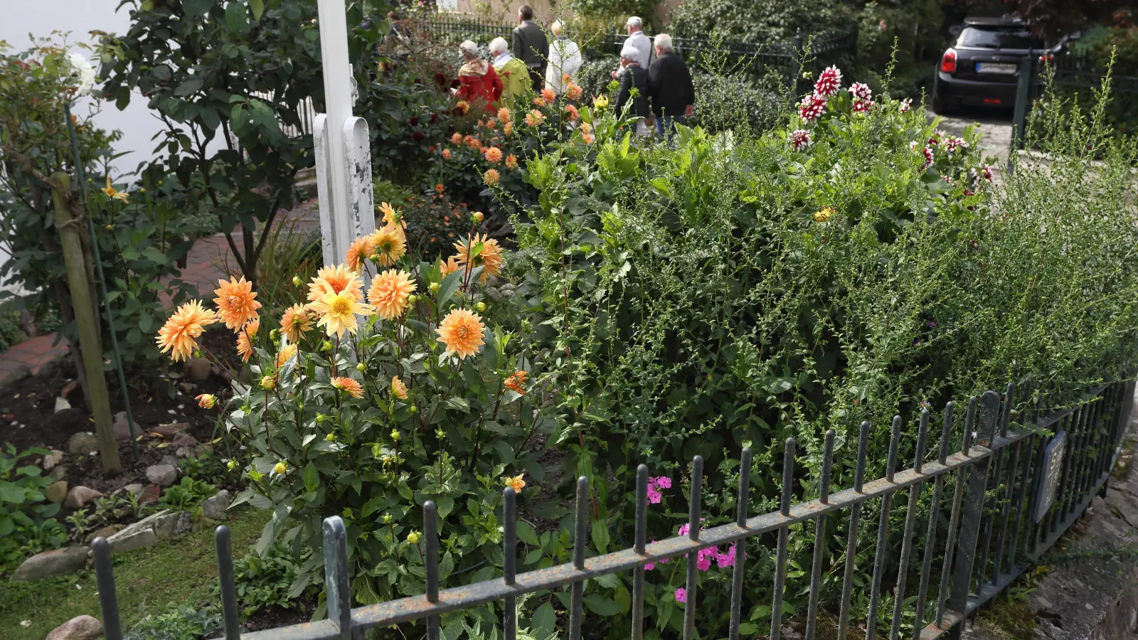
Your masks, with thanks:
<instances>
[{"instance_id":1,"label":"thick metal corner post of the foreground fence, left of the plaque","mask_svg":"<svg viewBox=\"0 0 1138 640\"><path fill-rule=\"evenodd\" d=\"M980 401L979 436L981 446L991 446L996 437L996 417L999 412L999 394L984 392ZM988 467L991 465L991 453L972 465L968 475L967 497L960 514L960 542L956 547L956 567L953 573L953 591L948 597L948 608L964 614L968 608L968 591L972 584L973 560L976 553L976 541L980 538L980 526L983 516L984 492L988 486ZM964 631L964 618L953 626L951 638L958 640Z\"/></svg>"}]
</instances>

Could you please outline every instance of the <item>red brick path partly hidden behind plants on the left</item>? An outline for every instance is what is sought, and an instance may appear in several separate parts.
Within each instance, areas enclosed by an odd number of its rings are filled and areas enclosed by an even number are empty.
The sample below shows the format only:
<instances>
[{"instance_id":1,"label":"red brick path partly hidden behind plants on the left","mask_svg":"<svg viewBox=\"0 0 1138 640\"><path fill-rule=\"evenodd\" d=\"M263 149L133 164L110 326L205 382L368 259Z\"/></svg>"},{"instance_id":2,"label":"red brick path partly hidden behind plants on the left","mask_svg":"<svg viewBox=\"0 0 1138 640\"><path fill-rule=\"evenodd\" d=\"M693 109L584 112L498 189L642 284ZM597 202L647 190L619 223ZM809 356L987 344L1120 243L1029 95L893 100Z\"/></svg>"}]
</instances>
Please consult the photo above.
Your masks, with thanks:
<instances>
[{"instance_id":1,"label":"red brick path partly hidden behind plants on the left","mask_svg":"<svg viewBox=\"0 0 1138 640\"><path fill-rule=\"evenodd\" d=\"M278 224L287 221L296 221L298 225L319 224L315 199L284 212L278 220ZM233 241L238 251L244 251L240 232L233 233ZM213 290L217 287L217 280L229 277L230 270L226 266L237 270L237 262L230 255L225 236L223 233L206 236L199 238L187 255L181 278L197 287L201 298L211 300ZM57 360L65 358L68 351L67 340L61 339L58 344L52 344L55 342L55 333L46 334L0 353L0 387L27 376L36 376Z\"/></svg>"}]
</instances>

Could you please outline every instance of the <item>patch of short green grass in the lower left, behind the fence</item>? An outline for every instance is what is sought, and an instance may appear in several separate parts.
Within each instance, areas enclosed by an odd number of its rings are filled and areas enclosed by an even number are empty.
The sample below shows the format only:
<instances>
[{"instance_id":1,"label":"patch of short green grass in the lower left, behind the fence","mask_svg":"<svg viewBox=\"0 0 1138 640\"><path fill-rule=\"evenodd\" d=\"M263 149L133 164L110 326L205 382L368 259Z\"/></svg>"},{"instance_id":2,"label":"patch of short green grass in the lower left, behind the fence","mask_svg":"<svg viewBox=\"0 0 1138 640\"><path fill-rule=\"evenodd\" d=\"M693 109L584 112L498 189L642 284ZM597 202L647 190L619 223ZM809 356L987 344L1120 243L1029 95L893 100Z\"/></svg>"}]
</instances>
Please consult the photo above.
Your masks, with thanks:
<instances>
[{"instance_id":1,"label":"patch of short green grass in the lower left, behind the fence","mask_svg":"<svg viewBox=\"0 0 1138 640\"><path fill-rule=\"evenodd\" d=\"M271 516L271 511L256 509L237 512L229 523L234 556L244 555L257 540ZM217 577L213 536L214 527L203 527L115 557L115 593L123 631L171 602L195 602L209 596L209 584ZM0 629L6 640L41 640L83 614L102 620L93 566L75 575L0 588ZM22 621L31 621L31 625L20 626Z\"/></svg>"}]
</instances>

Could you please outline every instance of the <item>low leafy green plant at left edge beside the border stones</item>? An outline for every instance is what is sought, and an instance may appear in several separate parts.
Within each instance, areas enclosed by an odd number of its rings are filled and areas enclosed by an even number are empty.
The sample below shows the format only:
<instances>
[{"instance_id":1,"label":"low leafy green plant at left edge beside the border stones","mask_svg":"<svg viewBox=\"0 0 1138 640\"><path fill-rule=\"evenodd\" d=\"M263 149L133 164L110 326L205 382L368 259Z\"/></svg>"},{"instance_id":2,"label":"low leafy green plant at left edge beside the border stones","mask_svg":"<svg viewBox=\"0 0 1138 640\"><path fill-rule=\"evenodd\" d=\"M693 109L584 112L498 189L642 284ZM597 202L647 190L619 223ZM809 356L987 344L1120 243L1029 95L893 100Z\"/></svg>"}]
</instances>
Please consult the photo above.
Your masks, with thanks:
<instances>
[{"instance_id":1,"label":"low leafy green plant at left edge beside the border stones","mask_svg":"<svg viewBox=\"0 0 1138 640\"><path fill-rule=\"evenodd\" d=\"M17 452L11 443L0 451L0 573L67 541L63 525L52 518L59 504L48 502L44 493L53 481L36 466L17 466L24 458L48 453L39 448Z\"/></svg>"}]
</instances>

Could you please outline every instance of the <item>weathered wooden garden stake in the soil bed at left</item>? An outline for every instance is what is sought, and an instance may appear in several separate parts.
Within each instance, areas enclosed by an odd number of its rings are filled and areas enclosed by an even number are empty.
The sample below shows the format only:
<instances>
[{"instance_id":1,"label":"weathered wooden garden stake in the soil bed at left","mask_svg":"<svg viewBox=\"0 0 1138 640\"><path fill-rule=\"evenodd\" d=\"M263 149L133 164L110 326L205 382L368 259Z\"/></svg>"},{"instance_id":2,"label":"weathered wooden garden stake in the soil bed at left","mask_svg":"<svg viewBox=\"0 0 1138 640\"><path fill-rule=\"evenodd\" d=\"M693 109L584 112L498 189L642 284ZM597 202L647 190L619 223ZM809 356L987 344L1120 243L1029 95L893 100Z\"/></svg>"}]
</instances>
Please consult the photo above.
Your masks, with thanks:
<instances>
[{"instance_id":1,"label":"weathered wooden garden stake in the soil bed at left","mask_svg":"<svg viewBox=\"0 0 1138 640\"><path fill-rule=\"evenodd\" d=\"M99 326L91 303L91 289L86 277L86 265L83 244L80 238L81 219L76 218L68 205L69 190L66 173L51 177L61 190L55 190L52 200L56 205L56 229L63 248L64 263L67 268L67 286L72 295L72 310L75 312L75 323L79 327L79 347L86 369L90 387L91 412L94 415L94 429L99 437L99 458L102 471L108 476L122 473L123 463L118 459L118 442L115 440L115 426L110 417L110 394L107 391L107 378L102 372L102 340L99 338Z\"/></svg>"}]
</instances>

